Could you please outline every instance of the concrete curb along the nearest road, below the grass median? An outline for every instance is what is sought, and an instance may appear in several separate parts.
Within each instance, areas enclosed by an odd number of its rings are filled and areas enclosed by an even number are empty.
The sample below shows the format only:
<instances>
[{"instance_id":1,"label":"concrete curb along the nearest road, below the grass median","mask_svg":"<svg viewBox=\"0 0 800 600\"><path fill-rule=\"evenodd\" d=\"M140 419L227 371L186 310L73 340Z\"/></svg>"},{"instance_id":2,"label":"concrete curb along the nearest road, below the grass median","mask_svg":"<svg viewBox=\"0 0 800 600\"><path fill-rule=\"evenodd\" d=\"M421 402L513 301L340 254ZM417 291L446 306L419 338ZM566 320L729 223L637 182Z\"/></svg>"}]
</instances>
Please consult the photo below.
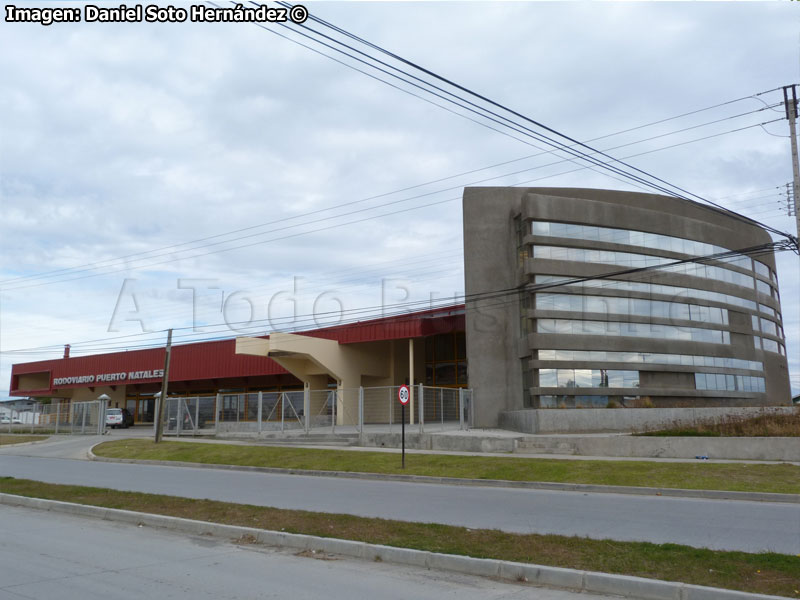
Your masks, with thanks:
<instances>
[{"instance_id":1,"label":"concrete curb along the nearest road, below the grass median","mask_svg":"<svg viewBox=\"0 0 800 600\"><path fill-rule=\"evenodd\" d=\"M658 579L612 575L609 573L515 563L496 559L472 558L454 554L439 554L425 550L268 531L253 527L207 523L180 517L139 513L86 504L72 504L70 502L29 498L12 494L0 493L0 504L103 519L105 521L118 521L131 525L160 527L189 535L211 535L233 540L247 537L255 539L256 543L266 546L291 548L298 551L322 551L368 561L382 561L426 569L454 571L467 575L493 577L506 581L531 583L581 592L633 596L642 600L786 600L782 596L751 594Z\"/></svg>"}]
</instances>

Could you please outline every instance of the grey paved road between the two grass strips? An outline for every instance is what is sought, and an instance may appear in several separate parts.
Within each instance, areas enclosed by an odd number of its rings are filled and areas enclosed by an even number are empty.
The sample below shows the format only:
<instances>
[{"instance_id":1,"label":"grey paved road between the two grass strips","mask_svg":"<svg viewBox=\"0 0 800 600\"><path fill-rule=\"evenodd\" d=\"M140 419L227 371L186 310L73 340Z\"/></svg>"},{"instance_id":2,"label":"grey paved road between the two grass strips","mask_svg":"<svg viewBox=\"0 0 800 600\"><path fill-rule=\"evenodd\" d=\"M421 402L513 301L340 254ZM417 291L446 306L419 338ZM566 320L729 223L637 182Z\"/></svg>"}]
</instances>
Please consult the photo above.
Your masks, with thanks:
<instances>
[{"instance_id":1,"label":"grey paved road between the two grass strips","mask_svg":"<svg viewBox=\"0 0 800 600\"><path fill-rule=\"evenodd\" d=\"M510 532L800 553L798 504L306 477L14 456L5 451L0 454L0 475Z\"/></svg>"}]
</instances>

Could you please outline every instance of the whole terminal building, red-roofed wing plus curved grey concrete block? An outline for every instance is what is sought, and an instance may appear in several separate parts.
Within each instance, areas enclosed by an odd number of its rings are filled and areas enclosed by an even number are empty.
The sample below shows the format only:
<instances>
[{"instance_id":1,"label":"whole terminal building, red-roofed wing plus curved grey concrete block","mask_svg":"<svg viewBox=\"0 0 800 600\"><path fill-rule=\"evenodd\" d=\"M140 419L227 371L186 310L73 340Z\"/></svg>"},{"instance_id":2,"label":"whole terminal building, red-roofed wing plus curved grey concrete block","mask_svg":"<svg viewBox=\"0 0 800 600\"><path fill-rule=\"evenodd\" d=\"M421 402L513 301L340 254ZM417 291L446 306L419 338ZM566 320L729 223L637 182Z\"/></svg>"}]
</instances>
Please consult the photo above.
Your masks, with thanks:
<instances>
[{"instance_id":1,"label":"whole terminal building, red-roofed wing plus curved grey concrete block","mask_svg":"<svg viewBox=\"0 0 800 600\"><path fill-rule=\"evenodd\" d=\"M769 244L760 227L610 190L467 188L463 211L464 305L176 345L169 395L469 387L479 427L548 408L790 405L772 251L731 253ZM10 394L105 394L152 423L163 366L163 348L67 349L13 365Z\"/></svg>"}]
</instances>

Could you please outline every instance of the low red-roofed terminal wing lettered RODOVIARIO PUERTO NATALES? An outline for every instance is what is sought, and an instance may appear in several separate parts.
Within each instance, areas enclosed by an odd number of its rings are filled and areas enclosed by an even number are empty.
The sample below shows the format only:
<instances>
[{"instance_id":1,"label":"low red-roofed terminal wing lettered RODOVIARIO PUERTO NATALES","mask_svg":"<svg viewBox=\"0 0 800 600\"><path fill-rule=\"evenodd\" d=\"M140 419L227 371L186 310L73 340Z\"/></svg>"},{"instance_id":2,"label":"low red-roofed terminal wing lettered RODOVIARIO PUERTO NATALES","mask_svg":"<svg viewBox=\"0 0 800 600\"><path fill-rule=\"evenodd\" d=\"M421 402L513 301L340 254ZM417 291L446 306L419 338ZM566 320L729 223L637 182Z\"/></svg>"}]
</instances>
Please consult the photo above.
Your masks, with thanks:
<instances>
[{"instance_id":1,"label":"low red-roofed terminal wing lettered RODOVIARIO PUERTO NATALES","mask_svg":"<svg viewBox=\"0 0 800 600\"><path fill-rule=\"evenodd\" d=\"M10 393L62 402L105 394L110 406L127 408L135 423L152 423L164 358L164 348L70 356L67 347L62 358L13 365ZM437 388L468 386L463 305L302 335L175 345L168 394L218 395L221 415L246 419L255 418L258 392L303 390L305 385L352 390L411 381ZM253 400L253 406L234 410L240 398Z\"/></svg>"}]
</instances>

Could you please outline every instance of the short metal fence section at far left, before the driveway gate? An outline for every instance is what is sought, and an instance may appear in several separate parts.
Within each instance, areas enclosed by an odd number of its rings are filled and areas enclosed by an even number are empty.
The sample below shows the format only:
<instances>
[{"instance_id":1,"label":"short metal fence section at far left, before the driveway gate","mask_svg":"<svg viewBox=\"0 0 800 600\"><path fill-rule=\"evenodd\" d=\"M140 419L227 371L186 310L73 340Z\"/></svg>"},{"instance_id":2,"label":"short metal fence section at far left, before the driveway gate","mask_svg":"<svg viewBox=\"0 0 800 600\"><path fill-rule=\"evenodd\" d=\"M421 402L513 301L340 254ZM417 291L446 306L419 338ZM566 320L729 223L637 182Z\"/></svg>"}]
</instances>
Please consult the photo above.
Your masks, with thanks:
<instances>
[{"instance_id":1,"label":"short metal fence section at far left, before the driveway gate","mask_svg":"<svg viewBox=\"0 0 800 600\"><path fill-rule=\"evenodd\" d=\"M105 431L106 402L37 403L23 410L0 413L0 432L69 433L102 435Z\"/></svg>"}]
</instances>

